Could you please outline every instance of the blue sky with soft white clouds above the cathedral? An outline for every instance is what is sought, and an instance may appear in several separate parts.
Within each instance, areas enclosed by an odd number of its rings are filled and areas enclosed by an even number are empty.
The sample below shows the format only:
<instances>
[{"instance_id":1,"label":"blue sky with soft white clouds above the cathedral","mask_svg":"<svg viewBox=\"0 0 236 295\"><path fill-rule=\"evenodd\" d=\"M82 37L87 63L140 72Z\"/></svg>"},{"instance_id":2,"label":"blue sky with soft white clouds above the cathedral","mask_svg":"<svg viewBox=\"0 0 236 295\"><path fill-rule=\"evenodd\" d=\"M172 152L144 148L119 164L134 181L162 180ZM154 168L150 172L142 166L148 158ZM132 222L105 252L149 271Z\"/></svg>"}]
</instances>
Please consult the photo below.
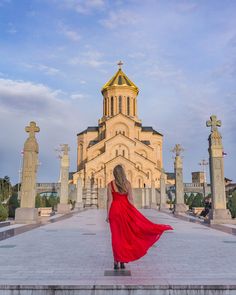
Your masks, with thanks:
<instances>
[{"instance_id":1,"label":"blue sky with soft white clouds above the cathedral","mask_svg":"<svg viewBox=\"0 0 236 295\"><path fill-rule=\"evenodd\" d=\"M140 89L139 117L184 151L184 177L208 158L206 120L222 120L225 175L236 181L236 1L0 0L0 177L16 183L24 127L40 126L38 181L57 181L55 148L102 115L117 61Z\"/></svg>"}]
</instances>

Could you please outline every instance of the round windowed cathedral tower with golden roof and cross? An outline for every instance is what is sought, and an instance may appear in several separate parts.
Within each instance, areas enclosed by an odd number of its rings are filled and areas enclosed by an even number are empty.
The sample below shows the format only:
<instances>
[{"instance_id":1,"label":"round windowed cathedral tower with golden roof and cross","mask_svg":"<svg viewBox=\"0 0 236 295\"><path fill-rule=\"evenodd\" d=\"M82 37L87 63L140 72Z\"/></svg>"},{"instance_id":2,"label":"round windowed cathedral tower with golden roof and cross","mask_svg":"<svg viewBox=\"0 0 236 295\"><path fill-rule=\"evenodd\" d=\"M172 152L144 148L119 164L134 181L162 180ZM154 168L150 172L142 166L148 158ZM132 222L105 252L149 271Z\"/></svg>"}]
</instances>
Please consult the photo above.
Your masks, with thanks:
<instances>
[{"instance_id":1,"label":"round windowed cathedral tower with golden roof and cross","mask_svg":"<svg viewBox=\"0 0 236 295\"><path fill-rule=\"evenodd\" d=\"M122 71L122 65L121 61L118 62L118 71L101 90L103 95L103 116L99 123L103 123L119 113L140 122L137 115L139 89Z\"/></svg>"}]
</instances>

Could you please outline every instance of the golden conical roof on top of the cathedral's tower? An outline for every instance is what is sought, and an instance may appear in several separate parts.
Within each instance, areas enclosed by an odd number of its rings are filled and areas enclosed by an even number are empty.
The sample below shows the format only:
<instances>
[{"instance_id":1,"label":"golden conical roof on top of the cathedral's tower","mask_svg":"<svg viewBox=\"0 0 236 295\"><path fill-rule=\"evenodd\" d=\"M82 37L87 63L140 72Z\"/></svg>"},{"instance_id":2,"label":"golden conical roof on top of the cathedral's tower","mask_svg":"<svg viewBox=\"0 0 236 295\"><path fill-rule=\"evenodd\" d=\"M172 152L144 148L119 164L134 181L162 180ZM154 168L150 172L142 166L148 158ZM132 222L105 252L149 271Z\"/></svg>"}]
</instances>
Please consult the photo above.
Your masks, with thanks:
<instances>
[{"instance_id":1,"label":"golden conical roof on top of the cathedral's tower","mask_svg":"<svg viewBox=\"0 0 236 295\"><path fill-rule=\"evenodd\" d=\"M129 86L138 94L138 87L126 76L121 68L115 73L115 75L102 87L102 93L111 86Z\"/></svg>"}]
</instances>

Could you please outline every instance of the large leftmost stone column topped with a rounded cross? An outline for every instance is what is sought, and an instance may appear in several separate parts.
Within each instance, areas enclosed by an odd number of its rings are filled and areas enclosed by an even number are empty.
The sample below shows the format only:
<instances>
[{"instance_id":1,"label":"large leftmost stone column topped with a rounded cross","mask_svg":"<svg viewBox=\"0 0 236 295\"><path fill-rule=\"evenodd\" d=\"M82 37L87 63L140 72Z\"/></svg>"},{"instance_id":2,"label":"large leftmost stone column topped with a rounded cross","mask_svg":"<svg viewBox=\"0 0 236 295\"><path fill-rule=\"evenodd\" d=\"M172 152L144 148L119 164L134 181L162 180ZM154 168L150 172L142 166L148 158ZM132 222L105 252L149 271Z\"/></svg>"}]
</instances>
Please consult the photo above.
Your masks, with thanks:
<instances>
[{"instance_id":1,"label":"large leftmost stone column topped with a rounded cross","mask_svg":"<svg viewBox=\"0 0 236 295\"><path fill-rule=\"evenodd\" d=\"M38 209L35 208L35 196L39 147L35 132L39 132L40 129L35 122L30 122L25 131L29 133L29 137L24 144L21 201L20 208L16 209L15 222L36 223Z\"/></svg>"}]
</instances>

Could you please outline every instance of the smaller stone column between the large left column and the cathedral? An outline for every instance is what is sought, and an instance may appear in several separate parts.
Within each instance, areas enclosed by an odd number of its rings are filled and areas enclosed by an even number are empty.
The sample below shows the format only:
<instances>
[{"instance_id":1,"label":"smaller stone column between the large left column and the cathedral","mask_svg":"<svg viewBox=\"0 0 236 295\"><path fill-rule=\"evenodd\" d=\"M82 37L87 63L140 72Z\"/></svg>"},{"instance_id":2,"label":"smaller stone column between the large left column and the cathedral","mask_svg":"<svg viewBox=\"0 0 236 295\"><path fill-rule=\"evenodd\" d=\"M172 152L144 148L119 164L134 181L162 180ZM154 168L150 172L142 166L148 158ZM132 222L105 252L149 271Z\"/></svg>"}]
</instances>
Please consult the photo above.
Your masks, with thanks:
<instances>
[{"instance_id":1,"label":"smaller stone column between the large left column and the cathedral","mask_svg":"<svg viewBox=\"0 0 236 295\"><path fill-rule=\"evenodd\" d=\"M69 197L69 147L68 144L61 145L61 188L60 188L60 203L57 205L57 212L58 213L68 213L70 212L70 204L68 204L68 197Z\"/></svg>"}]
</instances>

